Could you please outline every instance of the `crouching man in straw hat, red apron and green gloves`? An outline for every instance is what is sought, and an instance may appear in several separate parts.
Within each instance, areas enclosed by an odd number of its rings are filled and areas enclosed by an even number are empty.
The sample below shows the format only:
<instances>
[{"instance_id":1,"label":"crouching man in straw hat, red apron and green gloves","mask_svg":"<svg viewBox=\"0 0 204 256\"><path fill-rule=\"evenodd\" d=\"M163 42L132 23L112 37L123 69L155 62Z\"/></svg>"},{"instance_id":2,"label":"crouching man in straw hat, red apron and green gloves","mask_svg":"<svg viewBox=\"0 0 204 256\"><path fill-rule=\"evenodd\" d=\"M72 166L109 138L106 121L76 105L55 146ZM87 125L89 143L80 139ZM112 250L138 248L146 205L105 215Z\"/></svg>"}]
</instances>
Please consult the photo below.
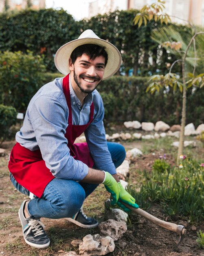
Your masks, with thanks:
<instances>
[{"instance_id":1,"label":"crouching man in straw hat, red apron and green gloves","mask_svg":"<svg viewBox=\"0 0 204 256\"><path fill-rule=\"evenodd\" d=\"M55 65L66 76L31 99L9 160L11 181L31 198L22 203L19 218L24 240L36 248L50 244L41 217L67 218L84 228L98 225L81 207L100 183L111 193L112 204L138 208L116 175L125 149L107 143L103 102L95 90L120 67L120 52L86 30L59 48ZM87 143L74 144L83 132Z\"/></svg>"}]
</instances>

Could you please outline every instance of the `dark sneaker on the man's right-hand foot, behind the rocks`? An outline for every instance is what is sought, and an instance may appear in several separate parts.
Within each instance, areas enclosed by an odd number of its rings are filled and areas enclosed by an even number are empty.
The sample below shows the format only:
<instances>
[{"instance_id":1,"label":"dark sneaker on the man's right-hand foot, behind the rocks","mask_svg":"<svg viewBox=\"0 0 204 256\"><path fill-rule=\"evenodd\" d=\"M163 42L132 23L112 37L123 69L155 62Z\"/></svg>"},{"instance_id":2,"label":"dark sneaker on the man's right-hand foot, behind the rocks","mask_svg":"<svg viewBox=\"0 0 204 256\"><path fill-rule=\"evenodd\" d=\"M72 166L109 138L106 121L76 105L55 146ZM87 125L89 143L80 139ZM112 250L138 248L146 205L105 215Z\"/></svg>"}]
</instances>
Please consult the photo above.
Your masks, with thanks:
<instances>
[{"instance_id":1,"label":"dark sneaker on the man's right-hand foot, behind the rocks","mask_svg":"<svg viewBox=\"0 0 204 256\"><path fill-rule=\"evenodd\" d=\"M72 218L66 219L85 229L93 229L99 225L99 222L94 218L88 218L82 208Z\"/></svg>"}]
</instances>

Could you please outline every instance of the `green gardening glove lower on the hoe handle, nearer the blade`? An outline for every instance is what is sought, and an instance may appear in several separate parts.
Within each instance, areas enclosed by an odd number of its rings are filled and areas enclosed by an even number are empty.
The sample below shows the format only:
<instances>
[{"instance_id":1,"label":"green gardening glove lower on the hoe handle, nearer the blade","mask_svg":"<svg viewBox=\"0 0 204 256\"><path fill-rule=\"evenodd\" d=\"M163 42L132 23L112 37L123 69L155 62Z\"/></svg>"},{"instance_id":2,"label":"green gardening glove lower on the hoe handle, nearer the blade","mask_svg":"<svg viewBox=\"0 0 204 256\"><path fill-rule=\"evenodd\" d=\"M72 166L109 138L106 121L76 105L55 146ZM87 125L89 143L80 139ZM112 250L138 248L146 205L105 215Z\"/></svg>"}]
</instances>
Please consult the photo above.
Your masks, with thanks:
<instances>
[{"instance_id":1,"label":"green gardening glove lower on the hoe handle, nearer the blade","mask_svg":"<svg viewBox=\"0 0 204 256\"><path fill-rule=\"evenodd\" d=\"M139 208L138 204L135 203L135 199L132 197L132 195L130 195L121 185L121 182L118 182L118 185L120 187L120 198L117 202L117 204L119 205L119 207L121 207L124 211L131 211L130 209L128 209L124 204L128 204L129 206L132 206L134 208Z\"/></svg>"}]
</instances>

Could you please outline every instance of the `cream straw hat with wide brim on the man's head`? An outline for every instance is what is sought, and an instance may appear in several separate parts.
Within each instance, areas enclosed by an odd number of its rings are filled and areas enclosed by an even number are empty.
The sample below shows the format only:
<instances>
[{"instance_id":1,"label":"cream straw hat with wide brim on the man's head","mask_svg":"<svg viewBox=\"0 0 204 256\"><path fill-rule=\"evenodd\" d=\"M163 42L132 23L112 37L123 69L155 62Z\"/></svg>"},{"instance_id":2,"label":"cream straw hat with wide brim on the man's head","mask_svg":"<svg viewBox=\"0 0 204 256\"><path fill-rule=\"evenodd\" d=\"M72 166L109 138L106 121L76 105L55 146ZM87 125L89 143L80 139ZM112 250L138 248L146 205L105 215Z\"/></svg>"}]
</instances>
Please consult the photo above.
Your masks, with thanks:
<instances>
[{"instance_id":1,"label":"cream straw hat with wide brim on the man's head","mask_svg":"<svg viewBox=\"0 0 204 256\"><path fill-rule=\"evenodd\" d=\"M108 60L105 66L103 79L114 75L121 66L122 58L118 49L111 43L99 38L91 29L85 30L78 39L75 39L65 45L62 45L55 54L55 66L64 75L70 72L69 58L71 53L79 45L95 44L105 47Z\"/></svg>"}]
</instances>

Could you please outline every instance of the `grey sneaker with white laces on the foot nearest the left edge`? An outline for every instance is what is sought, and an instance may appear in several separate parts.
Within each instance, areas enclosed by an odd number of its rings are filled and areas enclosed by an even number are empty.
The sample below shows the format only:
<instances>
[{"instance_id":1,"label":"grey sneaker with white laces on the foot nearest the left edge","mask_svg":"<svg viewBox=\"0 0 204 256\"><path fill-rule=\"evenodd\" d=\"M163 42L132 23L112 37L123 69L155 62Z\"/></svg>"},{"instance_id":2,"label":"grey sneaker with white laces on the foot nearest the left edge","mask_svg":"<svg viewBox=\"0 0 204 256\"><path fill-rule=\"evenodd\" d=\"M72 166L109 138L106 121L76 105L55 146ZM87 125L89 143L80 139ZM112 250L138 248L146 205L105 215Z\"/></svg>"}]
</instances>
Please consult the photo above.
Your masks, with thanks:
<instances>
[{"instance_id":1,"label":"grey sneaker with white laces on the foot nearest the left edge","mask_svg":"<svg viewBox=\"0 0 204 256\"><path fill-rule=\"evenodd\" d=\"M40 222L40 220L34 220L31 217L25 218L24 208L26 202L29 200L24 200L18 211L18 216L22 225L24 240L28 245L39 249L45 249L50 244L50 239L45 234L45 226Z\"/></svg>"}]
</instances>

